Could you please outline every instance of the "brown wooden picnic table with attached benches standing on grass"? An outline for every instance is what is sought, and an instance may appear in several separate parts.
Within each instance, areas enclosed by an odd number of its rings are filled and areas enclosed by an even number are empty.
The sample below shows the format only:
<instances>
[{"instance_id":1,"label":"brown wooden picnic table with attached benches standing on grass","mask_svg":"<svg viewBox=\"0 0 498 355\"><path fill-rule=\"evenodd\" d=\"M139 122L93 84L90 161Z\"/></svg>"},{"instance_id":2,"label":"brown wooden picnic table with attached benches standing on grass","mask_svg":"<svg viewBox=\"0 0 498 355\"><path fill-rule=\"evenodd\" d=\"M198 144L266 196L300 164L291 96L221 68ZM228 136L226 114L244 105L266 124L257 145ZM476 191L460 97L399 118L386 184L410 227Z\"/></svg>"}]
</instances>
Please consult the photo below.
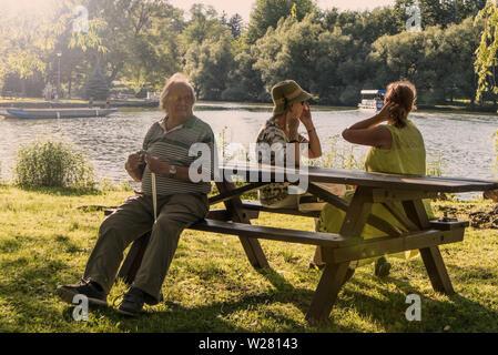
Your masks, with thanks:
<instances>
[{"instance_id":1,"label":"brown wooden picnic table with attached benches standing on grass","mask_svg":"<svg viewBox=\"0 0 498 355\"><path fill-rule=\"evenodd\" d=\"M210 199L210 204L223 203L225 209L211 210L205 220L190 229L238 236L250 263L256 268L270 267L258 240L319 246L326 265L306 314L308 322L319 322L329 316L350 262L385 254L419 250L433 288L439 293L454 294L439 245L461 242L469 223L455 220L429 221L423 199L435 197L438 193L498 189L497 182L469 179L392 175L319 168L309 168L306 176L296 171L287 172L288 181L295 182L296 178L307 179L308 193L346 212L341 232L331 234L251 224L251 220L257 219L260 212L308 217L319 215L317 212L273 210L263 207L258 202L241 200L244 193L281 181L276 180L276 176L284 170L275 166L237 166L237 170L224 168L221 171L223 176L235 175L244 181L254 181L254 176L258 176L257 181L263 181L265 174L270 174L271 180L264 183L248 182L238 189L231 178L216 182L218 194ZM327 190L327 184L331 183L355 185L353 200L346 202L331 193ZM408 232L403 232L370 214L373 203L384 204ZM398 209L399 205L404 211ZM360 234L365 224L383 231L387 236L364 240ZM126 284L133 283L149 239L150 233L136 240L121 266L118 277Z\"/></svg>"}]
</instances>

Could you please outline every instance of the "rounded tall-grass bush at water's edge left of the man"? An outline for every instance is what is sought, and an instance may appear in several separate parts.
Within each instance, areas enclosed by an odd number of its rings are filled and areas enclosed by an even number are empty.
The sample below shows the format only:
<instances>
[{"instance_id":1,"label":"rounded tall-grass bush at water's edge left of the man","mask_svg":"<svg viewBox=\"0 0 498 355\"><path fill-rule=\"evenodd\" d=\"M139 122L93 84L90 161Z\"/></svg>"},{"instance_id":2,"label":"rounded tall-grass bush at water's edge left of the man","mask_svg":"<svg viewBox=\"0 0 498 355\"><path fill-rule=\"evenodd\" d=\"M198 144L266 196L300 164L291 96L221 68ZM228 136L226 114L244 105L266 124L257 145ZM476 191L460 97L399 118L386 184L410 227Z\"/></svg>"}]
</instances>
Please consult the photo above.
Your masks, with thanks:
<instances>
[{"instance_id":1,"label":"rounded tall-grass bush at water's edge left of the man","mask_svg":"<svg viewBox=\"0 0 498 355\"><path fill-rule=\"evenodd\" d=\"M93 166L87 156L60 141L21 145L13 173L14 183L21 187L95 187Z\"/></svg>"}]
</instances>

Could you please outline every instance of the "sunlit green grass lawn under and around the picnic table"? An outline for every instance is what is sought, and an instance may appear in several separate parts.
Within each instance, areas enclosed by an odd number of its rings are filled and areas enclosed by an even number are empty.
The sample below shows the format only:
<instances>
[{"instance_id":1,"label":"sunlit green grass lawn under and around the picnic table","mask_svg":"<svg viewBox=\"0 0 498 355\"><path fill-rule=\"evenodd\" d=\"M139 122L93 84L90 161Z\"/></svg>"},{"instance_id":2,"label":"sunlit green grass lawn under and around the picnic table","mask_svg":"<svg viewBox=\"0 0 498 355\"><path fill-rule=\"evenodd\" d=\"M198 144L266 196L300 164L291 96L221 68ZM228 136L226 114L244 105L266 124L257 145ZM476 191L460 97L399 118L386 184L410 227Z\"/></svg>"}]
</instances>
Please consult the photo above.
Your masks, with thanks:
<instances>
[{"instance_id":1,"label":"sunlit green grass lawn under and around the picnic table","mask_svg":"<svg viewBox=\"0 0 498 355\"><path fill-rule=\"evenodd\" d=\"M96 241L103 213L82 205L119 205L130 192L81 194L0 186L0 332L498 332L498 232L468 229L464 243L443 246L457 295L435 293L420 258L392 260L386 280L358 268L318 327L304 316L321 272L312 246L262 241L272 265L256 271L238 239L185 231L163 285L165 302L130 320L91 308L72 318L55 287L77 282ZM488 211L484 202L440 202L451 213ZM258 223L313 230L313 220L263 213ZM109 301L125 292L116 285ZM421 297L421 322L408 322L406 296Z\"/></svg>"}]
</instances>

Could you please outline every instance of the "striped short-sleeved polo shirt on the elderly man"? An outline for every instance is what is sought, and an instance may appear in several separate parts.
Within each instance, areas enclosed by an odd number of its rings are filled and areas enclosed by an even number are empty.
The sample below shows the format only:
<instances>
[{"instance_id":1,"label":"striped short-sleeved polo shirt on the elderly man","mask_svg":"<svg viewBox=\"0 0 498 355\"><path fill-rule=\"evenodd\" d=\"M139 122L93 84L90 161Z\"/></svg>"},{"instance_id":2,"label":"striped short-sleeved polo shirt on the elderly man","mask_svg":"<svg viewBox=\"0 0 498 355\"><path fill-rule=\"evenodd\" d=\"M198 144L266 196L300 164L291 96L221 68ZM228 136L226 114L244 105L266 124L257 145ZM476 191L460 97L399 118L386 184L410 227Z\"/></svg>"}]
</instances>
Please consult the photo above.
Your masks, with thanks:
<instances>
[{"instance_id":1,"label":"striped short-sleeved polo shirt on the elderly man","mask_svg":"<svg viewBox=\"0 0 498 355\"><path fill-rule=\"evenodd\" d=\"M192 144L205 143L210 146L210 175L212 175L216 151L211 126L192 115L182 125L166 131L166 121L167 116L151 126L143 140L143 150L165 163L189 168L199 158L189 156ZM155 175L155 185L157 195L179 193L207 194L211 192L211 182L192 183L159 174ZM142 175L142 193L152 195L151 171L148 166L145 166Z\"/></svg>"}]
</instances>

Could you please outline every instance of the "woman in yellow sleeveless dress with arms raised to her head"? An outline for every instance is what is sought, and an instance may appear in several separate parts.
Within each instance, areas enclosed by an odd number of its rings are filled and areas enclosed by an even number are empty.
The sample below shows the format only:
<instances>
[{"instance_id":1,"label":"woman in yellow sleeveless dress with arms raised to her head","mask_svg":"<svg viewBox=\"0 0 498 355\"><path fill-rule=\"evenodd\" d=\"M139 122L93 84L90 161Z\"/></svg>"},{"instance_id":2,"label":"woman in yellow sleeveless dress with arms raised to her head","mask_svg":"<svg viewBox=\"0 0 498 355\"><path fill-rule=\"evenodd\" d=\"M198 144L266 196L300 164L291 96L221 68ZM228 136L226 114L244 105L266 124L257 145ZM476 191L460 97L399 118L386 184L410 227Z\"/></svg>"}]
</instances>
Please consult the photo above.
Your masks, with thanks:
<instances>
[{"instance_id":1,"label":"woman in yellow sleeveless dress with arms raised to her head","mask_svg":"<svg viewBox=\"0 0 498 355\"><path fill-rule=\"evenodd\" d=\"M343 138L349 143L372 146L365 161L365 170L368 172L390 173L390 174L426 174L426 150L424 139L415 126L408 120L408 114L416 109L415 102L417 91L410 82L394 82L387 87L384 109L375 116L364 120L346 129ZM382 124L387 122L387 124ZM353 197L353 192L345 195L346 200ZM424 201L429 219L434 217L430 203ZM399 205L400 207L400 205ZM403 209L400 209L404 211ZM406 231L396 217L382 204L375 203L372 213L402 231ZM325 233L338 233L345 217L345 212L327 204L322 211L317 223L317 231ZM364 239L374 239L386 236L382 231L365 225L362 236ZM417 251L396 254L397 257L406 260L418 256ZM374 260L352 263L347 273L346 281L353 276L355 267L365 265ZM323 265L321 248L315 252L312 266ZM390 271L390 264L385 257L376 260L375 274L377 276L387 276Z\"/></svg>"}]
</instances>

